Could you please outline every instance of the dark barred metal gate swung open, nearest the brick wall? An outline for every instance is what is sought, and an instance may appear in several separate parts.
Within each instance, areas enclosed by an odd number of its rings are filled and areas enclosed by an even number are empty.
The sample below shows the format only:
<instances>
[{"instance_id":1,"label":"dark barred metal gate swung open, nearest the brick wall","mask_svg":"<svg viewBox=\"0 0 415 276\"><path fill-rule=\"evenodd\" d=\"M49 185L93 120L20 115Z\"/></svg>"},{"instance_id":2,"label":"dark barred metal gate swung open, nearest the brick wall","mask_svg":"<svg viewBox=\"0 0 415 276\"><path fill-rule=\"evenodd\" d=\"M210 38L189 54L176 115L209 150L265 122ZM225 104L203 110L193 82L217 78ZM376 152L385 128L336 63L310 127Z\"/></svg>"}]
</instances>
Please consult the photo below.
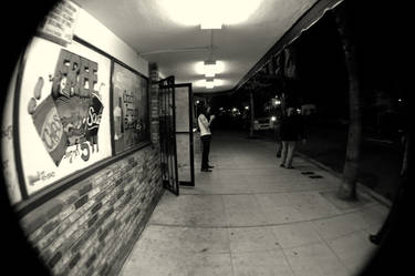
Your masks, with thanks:
<instances>
[{"instance_id":1,"label":"dark barred metal gate swung open, nearest the brick wall","mask_svg":"<svg viewBox=\"0 0 415 276\"><path fill-rule=\"evenodd\" d=\"M178 195L175 78L173 75L158 82L158 104L163 185Z\"/></svg>"}]
</instances>

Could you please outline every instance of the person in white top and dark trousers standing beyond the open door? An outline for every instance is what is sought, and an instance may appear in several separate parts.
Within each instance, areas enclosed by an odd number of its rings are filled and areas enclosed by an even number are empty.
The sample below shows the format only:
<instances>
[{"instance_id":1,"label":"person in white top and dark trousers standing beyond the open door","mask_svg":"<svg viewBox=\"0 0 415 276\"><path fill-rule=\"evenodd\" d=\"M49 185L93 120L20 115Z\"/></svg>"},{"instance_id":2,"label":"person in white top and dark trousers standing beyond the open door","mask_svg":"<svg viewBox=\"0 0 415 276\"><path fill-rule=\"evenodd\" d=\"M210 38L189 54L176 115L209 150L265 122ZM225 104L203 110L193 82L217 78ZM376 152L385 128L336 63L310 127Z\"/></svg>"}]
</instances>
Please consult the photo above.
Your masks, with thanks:
<instances>
[{"instance_id":1,"label":"person in white top and dark trousers standing beyond the open door","mask_svg":"<svg viewBox=\"0 0 415 276\"><path fill-rule=\"evenodd\" d=\"M209 165L209 151L210 151L210 140L211 140L211 132L210 132L210 124L215 119L215 115L210 115L210 106L207 104L203 104L199 109L199 116L197 117L198 126L200 130L200 140L203 144L203 152L201 152L201 172L211 172L210 168L214 166ZM208 120L209 117L209 120Z\"/></svg>"}]
</instances>

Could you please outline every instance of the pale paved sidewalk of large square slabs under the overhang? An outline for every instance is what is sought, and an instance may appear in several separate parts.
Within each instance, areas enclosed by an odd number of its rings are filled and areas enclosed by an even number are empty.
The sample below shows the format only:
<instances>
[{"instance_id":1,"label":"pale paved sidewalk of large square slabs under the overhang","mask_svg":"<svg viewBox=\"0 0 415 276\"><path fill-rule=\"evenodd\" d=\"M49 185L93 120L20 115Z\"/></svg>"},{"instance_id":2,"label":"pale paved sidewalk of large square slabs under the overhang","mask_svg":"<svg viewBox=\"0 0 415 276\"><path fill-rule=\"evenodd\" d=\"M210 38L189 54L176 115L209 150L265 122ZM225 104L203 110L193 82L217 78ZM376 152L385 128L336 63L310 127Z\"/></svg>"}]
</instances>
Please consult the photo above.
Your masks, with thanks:
<instances>
[{"instance_id":1,"label":"pale paved sidewalk of large square slabs under the overhang","mask_svg":"<svg viewBox=\"0 0 415 276\"><path fill-rule=\"evenodd\" d=\"M354 275L375 252L387 207L339 201L330 173L300 157L281 168L271 142L232 133L215 134L210 160L195 187L164 194L122 276Z\"/></svg>"}]
</instances>

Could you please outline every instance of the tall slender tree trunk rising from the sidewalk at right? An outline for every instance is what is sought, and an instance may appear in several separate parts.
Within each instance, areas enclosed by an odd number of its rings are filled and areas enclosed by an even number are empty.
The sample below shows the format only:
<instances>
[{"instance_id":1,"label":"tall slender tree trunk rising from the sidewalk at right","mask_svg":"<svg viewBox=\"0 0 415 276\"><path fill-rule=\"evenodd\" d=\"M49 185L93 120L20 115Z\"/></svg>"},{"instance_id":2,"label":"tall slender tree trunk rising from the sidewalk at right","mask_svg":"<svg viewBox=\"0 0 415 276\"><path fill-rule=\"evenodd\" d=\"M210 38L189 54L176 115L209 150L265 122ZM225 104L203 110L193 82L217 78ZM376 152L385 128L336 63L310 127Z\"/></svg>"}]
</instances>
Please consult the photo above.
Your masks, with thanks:
<instances>
[{"instance_id":1,"label":"tall slender tree trunk rising from the sidewalk at right","mask_svg":"<svg viewBox=\"0 0 415 276\"><path fill-rule=\"evenodd\" d=\"M351 27L344 3L335 10L335 21L344 51L344 60L349 74L349 135L346 156L343 167L343 180L338 191L338 197L355 201L359 161L361 155L362 115L360 100L360 82L355 44L351 38Z\"/></svg>"}]
</instances>

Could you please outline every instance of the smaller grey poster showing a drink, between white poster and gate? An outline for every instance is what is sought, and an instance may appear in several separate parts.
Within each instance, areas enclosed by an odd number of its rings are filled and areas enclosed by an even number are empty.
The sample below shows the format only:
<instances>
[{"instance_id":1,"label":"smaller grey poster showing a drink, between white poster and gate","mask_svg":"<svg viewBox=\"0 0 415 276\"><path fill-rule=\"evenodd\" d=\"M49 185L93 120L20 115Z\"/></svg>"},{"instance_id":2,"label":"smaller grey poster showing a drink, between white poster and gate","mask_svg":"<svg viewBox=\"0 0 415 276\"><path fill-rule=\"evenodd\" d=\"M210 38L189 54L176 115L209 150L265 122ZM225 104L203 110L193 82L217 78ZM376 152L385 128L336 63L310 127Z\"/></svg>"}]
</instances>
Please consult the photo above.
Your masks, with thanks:
<instances>
[{"instance_id":1,"label":"smaller grey poster showing a drink, between white poster and gate","mask_svg":"<svg viewBox=\"0 0 415 276\"><path fill-rule=\"evenodd\" d=\"M115 153L149 140L147 80L114 63L113 115Z\"/></svg>"}]
</instances>

